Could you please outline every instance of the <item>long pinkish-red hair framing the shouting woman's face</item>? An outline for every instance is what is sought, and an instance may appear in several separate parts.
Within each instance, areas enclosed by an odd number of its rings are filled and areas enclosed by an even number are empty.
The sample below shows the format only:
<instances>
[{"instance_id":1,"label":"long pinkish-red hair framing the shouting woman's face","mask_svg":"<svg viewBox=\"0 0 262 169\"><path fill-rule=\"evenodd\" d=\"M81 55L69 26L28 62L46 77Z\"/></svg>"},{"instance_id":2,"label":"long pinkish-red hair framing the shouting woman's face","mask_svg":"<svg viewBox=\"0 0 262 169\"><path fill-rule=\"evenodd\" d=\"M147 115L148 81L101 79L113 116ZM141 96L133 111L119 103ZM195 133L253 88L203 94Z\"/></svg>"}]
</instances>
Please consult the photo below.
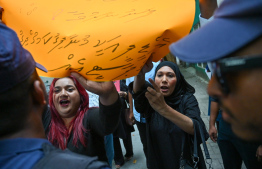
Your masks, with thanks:
<instances>
[{"instance_id":1,"label":"long pinkish-red hair framing the shouting woman's face","mask_svg":"<svg viewBox=\"0 0 262 169\"><path fill-rule=\"evenodd\" d=\"M76 116L73 118L73 120L70 122L69 125L69 128L72 127L71 132L73 132L73 144L74 146L77 147L77 142L79 140L81 144L84 147L86 147L87 141L84 136L84 133L87 133L88 131L83 126L83 118L85 112L87 112L89 109L89 97L84 87L75 79L75 77L69 76L68 78L73 80L80 94L80 107L77 110ZM49 91L49 105L50 105L52 119L49 125L48 140L53 145L64 150L67 147L70 131L65 126L64 121L60 117L53 103L54 86L57 80L59 80L59 78L55 78L52 81ZM66 141L64 141L64 138L66 139Z\"/></svg>"}]
</instances>

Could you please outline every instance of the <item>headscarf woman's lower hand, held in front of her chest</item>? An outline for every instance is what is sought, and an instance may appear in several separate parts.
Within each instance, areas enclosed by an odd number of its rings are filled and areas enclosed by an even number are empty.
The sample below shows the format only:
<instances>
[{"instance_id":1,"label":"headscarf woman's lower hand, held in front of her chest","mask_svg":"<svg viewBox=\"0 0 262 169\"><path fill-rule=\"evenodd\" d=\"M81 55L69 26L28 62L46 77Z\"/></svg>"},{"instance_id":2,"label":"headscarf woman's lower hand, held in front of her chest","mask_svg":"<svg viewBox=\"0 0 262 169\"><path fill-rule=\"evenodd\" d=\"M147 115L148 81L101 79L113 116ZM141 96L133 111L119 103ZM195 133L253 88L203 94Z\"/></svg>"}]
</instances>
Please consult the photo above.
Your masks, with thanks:
<instances>
[{"instance_id":1,"label":"headscarf woman's lower hand, held in front of her chest","mask_svg":"<svg viewBox=\"0 0 262 169\"><path fill-rule=\"evenodd\" d=\"M148 87L145 96L148 99L151 107L159 114L163 115L163 113L166 112L165 110L168 107L168 105L165 102L164 96L161 93L160 88L152 79L149 79L149 81L153 85L154 89Z\"/></svg>"}]
</instances>

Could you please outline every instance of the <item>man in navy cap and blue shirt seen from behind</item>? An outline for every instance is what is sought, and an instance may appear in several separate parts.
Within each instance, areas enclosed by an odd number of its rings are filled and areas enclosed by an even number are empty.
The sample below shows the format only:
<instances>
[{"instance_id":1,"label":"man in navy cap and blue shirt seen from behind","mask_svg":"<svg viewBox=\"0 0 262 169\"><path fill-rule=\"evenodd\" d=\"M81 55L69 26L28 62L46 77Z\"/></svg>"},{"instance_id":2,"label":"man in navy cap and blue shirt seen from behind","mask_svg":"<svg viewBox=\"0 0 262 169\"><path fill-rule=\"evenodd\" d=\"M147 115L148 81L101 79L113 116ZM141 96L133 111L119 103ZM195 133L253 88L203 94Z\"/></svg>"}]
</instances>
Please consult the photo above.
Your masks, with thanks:
<instances>
[{"instance_id":1,"label":"man in navy cap and blue shirt seen from behind","mask_svg":"<svg viewBox=\"0 0 262 169\"><path fill-rule=\"evenodd\" d=\"M1 168L107 168L97 158L62 151L46 140L42 114L47 108L36 63L14 31L0 23Z\"/></svg>"}]
</instances>

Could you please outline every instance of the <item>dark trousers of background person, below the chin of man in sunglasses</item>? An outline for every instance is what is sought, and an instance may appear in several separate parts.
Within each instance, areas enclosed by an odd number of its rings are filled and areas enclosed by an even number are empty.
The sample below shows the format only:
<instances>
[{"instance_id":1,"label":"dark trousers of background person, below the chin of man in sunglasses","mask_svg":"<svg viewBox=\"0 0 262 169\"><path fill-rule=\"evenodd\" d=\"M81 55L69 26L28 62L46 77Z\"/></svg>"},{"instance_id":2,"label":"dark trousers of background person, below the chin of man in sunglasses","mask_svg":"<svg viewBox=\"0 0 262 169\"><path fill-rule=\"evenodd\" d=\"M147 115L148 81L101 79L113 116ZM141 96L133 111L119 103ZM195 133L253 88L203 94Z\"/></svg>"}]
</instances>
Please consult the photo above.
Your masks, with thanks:
<instances>
[{"instance_id":1,"label":"dark trousers of background person, below the chin of man in sunglasses","mask_svg":"<svg viewBox=\"0 0 262 169\"><path fill-rule=\"evenodd\" d=\"M225 169L241 169L242 161L247 169L262 169L262 164L256 158L259 144L238 138L232 132L230 124L223 119L219 122L218 146Z\"/></svg>"}]
</instances>

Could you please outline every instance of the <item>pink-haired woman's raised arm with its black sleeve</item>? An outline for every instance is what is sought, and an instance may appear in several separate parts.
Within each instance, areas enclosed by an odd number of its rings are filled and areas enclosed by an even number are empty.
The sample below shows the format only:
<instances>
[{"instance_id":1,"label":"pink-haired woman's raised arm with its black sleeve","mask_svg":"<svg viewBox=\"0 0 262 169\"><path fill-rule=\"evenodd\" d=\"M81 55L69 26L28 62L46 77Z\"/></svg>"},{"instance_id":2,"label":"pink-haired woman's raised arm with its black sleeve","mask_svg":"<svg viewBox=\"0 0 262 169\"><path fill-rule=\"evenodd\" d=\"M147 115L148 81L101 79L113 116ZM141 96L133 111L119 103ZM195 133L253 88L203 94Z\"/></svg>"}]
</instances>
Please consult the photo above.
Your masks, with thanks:
<instances>
[{"instance_id":1,"label":"pink-haired woman's raised arm with its black sleeve","mask_svg":"<svg viewBox=\"0 0 262 169\"><path fill-rule=\"evenodd\" d=\"M121 102L114 83L90 81L75 72L72 72L71 75L86 90L99 95L99 109L92 109L88 113L92 130L101 136L113 133L118 126L121 110Z\"/></svg>"}]
</instances>

